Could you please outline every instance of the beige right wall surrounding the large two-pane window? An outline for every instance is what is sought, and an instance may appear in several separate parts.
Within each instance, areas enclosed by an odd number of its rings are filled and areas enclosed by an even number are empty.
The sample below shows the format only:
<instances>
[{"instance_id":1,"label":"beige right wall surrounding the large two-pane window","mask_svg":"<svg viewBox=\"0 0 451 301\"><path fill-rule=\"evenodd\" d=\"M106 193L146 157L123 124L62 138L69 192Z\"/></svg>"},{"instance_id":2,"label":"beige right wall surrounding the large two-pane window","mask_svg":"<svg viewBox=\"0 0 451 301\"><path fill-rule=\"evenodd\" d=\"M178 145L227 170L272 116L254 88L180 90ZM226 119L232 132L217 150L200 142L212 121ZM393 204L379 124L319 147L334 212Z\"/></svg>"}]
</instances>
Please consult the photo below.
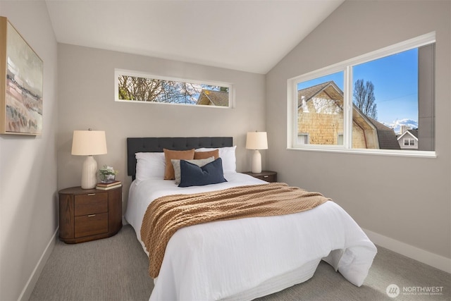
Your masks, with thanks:
<instances>
[{"instance_id":1,"label":"beige right wall surrounding the large two-pane window","mask_svg":"<svg viewBox=\"0 0 451 301\"><path fill-rule=\"evenodd\" d=\"M415 252L437 255L440 264L448 262L442 266L448 271L450 19L450 1L345 1L266 77L267 164L279 172L278 179L323 192L363 228ZM432 31L437 38L436 159L286 149L289 78Z\"/></svg>"}]
</instances>

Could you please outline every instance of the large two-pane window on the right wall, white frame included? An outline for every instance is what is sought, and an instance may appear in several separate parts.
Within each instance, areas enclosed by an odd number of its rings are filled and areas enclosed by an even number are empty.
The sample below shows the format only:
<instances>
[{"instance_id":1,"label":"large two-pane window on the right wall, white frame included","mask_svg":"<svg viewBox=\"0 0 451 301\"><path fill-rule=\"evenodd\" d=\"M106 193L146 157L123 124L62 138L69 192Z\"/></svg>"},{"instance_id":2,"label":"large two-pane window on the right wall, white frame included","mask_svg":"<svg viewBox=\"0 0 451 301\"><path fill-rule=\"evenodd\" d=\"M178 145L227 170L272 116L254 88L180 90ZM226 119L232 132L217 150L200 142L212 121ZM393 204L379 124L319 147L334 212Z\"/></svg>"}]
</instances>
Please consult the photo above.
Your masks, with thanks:
<instances>
[{"instance_id":1,"label":"large two-pane window on the right wall, white frame included","mask_svg":"<svg viewBox=\"0 0 451 301\"><path fill-rule=\"evenodd\" d=\"M435 156L434 55L431 33L288 80L288 147Z\"/></svg>"}]
</instances>

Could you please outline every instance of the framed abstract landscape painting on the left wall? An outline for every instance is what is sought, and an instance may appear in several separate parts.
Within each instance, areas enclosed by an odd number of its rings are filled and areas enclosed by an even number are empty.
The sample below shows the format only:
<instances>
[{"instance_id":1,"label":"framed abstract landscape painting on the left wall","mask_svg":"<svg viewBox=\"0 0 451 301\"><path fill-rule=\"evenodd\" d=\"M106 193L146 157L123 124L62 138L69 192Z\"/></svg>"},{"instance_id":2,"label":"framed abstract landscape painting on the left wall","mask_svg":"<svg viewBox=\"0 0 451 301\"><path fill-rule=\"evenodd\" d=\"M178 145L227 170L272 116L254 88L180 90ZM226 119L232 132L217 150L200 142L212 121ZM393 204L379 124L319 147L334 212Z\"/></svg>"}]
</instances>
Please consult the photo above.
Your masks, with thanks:
<instances>
[{"instance_id":1,"label":"framed abstract landscape painting on the left wall","mask_svg":"<svg viewBox=\"0 0 451 301\"><path fill-rule=\"evenodd\" d=\"M44 62L0 17L0 134L42 135Z\"/></svg>"}]
</instances>

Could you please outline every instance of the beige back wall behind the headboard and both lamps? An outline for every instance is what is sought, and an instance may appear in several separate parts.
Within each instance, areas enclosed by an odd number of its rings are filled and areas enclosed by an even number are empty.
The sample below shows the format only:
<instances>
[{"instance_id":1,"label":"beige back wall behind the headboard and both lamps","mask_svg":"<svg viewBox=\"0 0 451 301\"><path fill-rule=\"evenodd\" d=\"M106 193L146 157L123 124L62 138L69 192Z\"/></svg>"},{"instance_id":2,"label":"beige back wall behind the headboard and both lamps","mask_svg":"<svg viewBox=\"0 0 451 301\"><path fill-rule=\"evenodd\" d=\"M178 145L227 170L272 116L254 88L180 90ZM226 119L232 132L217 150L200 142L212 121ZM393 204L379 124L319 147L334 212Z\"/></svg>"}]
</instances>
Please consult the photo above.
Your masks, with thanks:
<instances>
[{"instance_id":1,"label":"beige back wall behind the headboard and both lamps","mask_svg":"<svg viewBox=\"0 0 451 301\"><path fill-rule=\"evenodd\" d=\"M235 108L114 102L114 68L230 82L235 87ZM125 183L124 209L131 182L127 137L233 136L237 170L249 171L252 152L245 149L246 133L265 130L264 75L59 44L58 76L58 188L80 185L85 157L70 154L73 130L106 130L108 154L95 159L98 166L109 164L119 170L117 178Z\"/></svg>"}]
</instances>

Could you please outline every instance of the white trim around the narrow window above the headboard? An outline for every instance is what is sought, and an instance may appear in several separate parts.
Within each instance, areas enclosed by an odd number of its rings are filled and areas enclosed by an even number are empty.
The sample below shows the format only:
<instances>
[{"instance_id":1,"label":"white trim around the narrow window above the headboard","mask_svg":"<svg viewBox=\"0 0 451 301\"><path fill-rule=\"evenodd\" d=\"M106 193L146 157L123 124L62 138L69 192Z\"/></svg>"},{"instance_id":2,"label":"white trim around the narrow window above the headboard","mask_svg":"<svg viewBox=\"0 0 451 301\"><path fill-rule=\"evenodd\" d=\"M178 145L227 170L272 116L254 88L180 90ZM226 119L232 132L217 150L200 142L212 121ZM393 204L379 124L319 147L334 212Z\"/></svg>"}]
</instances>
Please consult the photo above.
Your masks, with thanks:
<instances>
[{"instance_id":1,"label":"white trim around the narrow window above the headboard","mask_svg":"<svg viewBox=\"0 0 451 301\"><path fill-rule=\"evenodd\" d=\"M141 100L124 100L119 99L119 80L118 75L128 75L133 76L137 78L155 78L156 80L173 80L175 82L190 82L193 84L199 84L199 85L214 85L219 87L228 87L228 106L206 106L202 104L173 104L168 102L143 102ZM187 78L173 78L169 76L161 76L161 75L154 75L151 73L141 72L141 71L134 71L134 70L125 70L125 69L114 69L114 101L115 102L128 102L128 103L135 103L135 104L166 104L166 105L177 105L177 106L198 106L203 108L216 108L216 109L232 109L235 108L235 89L233 88L233 84L230 82L216 82L211 80L191 80Z\"/></svg>"}]
</instances>

